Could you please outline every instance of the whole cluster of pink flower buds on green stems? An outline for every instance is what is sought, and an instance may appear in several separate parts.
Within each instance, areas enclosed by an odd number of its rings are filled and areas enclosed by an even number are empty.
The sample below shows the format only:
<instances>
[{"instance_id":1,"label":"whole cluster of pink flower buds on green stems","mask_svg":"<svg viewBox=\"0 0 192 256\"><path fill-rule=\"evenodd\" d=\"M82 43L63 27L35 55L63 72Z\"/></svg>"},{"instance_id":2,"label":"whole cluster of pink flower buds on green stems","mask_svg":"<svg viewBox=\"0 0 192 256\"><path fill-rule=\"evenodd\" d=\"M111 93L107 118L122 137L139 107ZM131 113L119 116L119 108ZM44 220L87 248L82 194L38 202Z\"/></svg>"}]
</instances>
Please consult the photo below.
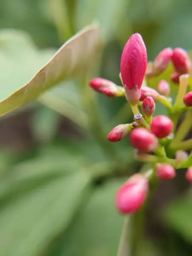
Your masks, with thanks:
<instances>
[{"instance_id":1,"label":"whole cluster of pink flower buds on green stems","mask_svg":"<svg viewBox=\"0 0 192 256\"><path fill-rule=\"evenodd\" d=\"M145 78L158 76L166 70L170 61L174 66L171 79L180 84L175 105L172 105L172 100L168 98L171 89L166 80L159 81L157 90L148 87L145 83ZM192 165L192 153L188 156L185 151L179 150L177 147L175 151L171 148L175 145L175 141L178 143L178 137L183 136L183 131L178 132L179 135L173 133L175 119L173 118L173 122L170 117L165 115L153 117L156 101L160 101L172 116L175 114L177 119L178 113L190 111L192 92L186 93L190 70L189 55L181 48L163 49L154 62L147 65L145 43L141 35L136 33L129 38L122 52L119 75L122 86L101 78L90 81L90 86L94 90L109 97L125 96L134 114L133 122L117 125L108 134L108 140L118 142L130 133L130 143L136 150L134 152L137 152L134 155L135 159L151 162L153 166L152 174L154 175L134 174L119 188L116 195L116 206L123 214L134 213L143 206L148 195L151 177L161 180L172 179L176 175L175 169L187 166L189 158L191 158L191 162L189 161L190 164L187 167ZM183 142L179 143L181 144L178 145L182 145L182 148ZM175 158L168 157L169 150L174 152ZM192 167L187 169L186 179L192 182Z\"/></svg>"}]
</instances>

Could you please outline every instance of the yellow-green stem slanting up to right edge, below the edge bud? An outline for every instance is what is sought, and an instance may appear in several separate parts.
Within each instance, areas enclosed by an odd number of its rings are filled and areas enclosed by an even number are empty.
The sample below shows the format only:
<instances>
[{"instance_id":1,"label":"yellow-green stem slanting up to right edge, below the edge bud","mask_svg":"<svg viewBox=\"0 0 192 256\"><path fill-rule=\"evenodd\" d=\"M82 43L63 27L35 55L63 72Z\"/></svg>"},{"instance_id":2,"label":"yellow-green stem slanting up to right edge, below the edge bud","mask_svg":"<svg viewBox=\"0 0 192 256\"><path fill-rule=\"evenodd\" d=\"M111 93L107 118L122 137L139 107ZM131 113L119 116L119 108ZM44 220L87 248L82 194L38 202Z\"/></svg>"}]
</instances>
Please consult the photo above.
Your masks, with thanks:
<instances>
[{"instance_id":1,"label":"yellow-green stem slanting up to right edge, below the edge bud","mask_svg":"<svg viewBox=\"0 0 192 256\"><path fill-rule=\"evenodd\" d=\"M183 122L179 126L175 134L175 137L172 140L172 143L170 144L170 147L172 147L172 145L175 145L176 143L179 143L181 140L183 140L188 134L191 127L192 127L192 109L187 111Z\"/></svg>"}]
</instances>

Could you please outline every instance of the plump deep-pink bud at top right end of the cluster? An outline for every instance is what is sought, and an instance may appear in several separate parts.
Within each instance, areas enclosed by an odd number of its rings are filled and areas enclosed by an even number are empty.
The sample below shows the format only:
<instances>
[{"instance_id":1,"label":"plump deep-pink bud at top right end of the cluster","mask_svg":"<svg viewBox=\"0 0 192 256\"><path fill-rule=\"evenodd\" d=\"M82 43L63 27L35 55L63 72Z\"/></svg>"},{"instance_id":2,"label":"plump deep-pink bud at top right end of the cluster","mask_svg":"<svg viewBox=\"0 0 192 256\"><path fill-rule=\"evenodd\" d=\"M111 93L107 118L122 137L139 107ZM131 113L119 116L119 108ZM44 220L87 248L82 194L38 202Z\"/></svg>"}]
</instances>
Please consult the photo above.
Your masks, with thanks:
<instances>
[{"instance_id":1,"label":"plump deep-pink bud at top right end of the cluster","mask_svg":"<svg viewBox=\"0 0 192 256\"><path fill-rule=\"evenodd\" d=\"M172 62L175 69L180 74L188 74L191 68L191 60L188 53L182 48L175 48L173 50Z\"/></svg>"}]
</instances>

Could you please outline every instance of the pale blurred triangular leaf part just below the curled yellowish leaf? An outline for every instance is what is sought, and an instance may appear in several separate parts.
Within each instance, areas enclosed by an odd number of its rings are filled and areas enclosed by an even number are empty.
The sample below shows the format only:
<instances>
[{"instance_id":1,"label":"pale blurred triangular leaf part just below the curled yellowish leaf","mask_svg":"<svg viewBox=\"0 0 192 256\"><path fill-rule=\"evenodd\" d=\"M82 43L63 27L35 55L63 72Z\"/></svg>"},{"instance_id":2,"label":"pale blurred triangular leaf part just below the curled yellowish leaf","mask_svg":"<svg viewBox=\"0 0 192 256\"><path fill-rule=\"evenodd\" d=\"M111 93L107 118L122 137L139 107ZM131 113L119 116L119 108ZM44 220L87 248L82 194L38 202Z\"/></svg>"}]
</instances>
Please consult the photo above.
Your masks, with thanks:
<instances>
[{"instance_id":1,"label":"pale blurred triangular leaf part just below the curled yellowish leaf","mask_svg":"<svg viewBox=\"0 0 192 256\"><path fill-rule=\"evenodd\" d=\"M73 80L61 82L40 96L38 100L79 126L87 127L87 116L81 105L81 94L77 85Z\"/></svg>"}]
</instances>

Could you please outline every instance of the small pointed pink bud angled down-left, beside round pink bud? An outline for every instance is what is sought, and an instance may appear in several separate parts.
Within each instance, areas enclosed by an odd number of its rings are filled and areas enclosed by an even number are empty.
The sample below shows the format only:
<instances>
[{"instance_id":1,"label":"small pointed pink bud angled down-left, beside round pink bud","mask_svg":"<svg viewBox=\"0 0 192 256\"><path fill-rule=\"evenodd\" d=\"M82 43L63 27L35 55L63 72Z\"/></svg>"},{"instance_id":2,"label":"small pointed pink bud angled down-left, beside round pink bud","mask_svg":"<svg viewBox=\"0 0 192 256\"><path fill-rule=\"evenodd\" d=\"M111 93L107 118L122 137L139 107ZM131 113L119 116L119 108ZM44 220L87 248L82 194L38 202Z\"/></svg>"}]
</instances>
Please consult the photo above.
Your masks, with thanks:
<instances>
[{"instance_id":1,"label":"small pointed pink bud angled down-left, beside round pink bud","mask_svg":"<svg viewBox=\"0 0 192 256\"><path fill-rule=\"evenodd\" d=\"M131 131L131 128L133 128L132 124L117 125L108 134L108 140L112 142L122 140L122 138L124 138Z\"/></svg>"}]
</instances>

